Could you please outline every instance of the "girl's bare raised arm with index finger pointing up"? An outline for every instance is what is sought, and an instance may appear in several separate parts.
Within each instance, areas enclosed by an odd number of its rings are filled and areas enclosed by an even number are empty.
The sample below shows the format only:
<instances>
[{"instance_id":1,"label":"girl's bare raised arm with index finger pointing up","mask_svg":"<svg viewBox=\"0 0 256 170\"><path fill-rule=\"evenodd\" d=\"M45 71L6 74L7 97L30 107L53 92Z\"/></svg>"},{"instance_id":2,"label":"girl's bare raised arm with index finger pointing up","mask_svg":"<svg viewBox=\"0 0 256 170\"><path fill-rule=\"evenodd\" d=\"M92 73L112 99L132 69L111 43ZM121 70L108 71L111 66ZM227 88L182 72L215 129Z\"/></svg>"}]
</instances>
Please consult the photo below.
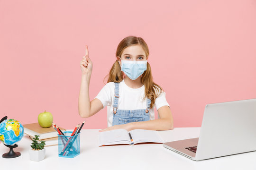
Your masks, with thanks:
<instances>
[{"instance_id":1,"label":"girl's bare raised arm with index finger pointing up","mask_svg":"<svg viewBox=\"0 0 256 170\"><path fill-rule=\"evenodd\" d=\"M83 56L82 60L80 61L80 67L82 70L82 81L78 99L78 110L79 115L82 118L88 118L103 109L103 105L99 99L94 99L90 102L89 85L91 79L92 62L89 58L87 45L85 56Z\"/></svg>"}]
</instances>

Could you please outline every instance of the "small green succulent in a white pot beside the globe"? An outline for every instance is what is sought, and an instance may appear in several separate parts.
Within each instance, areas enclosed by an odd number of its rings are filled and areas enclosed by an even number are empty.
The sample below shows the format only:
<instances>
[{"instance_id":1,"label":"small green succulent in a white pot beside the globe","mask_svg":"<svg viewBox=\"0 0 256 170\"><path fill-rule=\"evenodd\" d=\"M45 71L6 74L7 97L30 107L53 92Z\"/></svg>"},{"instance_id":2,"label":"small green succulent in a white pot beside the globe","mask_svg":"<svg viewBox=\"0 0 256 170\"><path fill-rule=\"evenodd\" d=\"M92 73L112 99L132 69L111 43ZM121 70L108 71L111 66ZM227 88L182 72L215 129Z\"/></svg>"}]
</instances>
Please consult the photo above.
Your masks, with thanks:
<instances>
[{"instance_id":1,"label":"small green succulent in a white pot beside the globe","mask_svg":"<svg viewBox=\"0 0 256 170\"><path fill-rule=\"evenodd\" d=\"M40 143L38 143L38 137L38 135L35 135L35 137L32 138L32 145L30 145L32 149L28 151L31 161L42 161L43 159L45 159L46 149L44 147L46 145L46 141L41 141Z\"/></svg>"}]
</instances>

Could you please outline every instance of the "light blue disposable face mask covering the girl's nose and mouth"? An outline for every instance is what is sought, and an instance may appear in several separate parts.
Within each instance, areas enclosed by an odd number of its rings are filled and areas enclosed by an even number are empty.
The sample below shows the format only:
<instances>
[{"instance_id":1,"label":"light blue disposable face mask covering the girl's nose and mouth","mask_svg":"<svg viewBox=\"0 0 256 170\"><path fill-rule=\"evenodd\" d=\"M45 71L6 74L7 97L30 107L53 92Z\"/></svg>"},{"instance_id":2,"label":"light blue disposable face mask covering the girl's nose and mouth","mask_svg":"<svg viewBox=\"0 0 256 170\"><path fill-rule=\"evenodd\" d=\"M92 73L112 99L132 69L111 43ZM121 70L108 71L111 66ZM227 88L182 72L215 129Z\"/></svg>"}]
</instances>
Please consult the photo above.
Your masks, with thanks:
<instances>
[{"instance_id":1,"label":"light blue disposable face mask covering the girl's nose and mouth","mask_svg":"<svg viewBox=\"0 0 256 170\"><path fill-rule=\"evenodd\" d=\"M123 71L132 80L136 80L146 70L146 60L145 61L121 60L121 62L122 62L121 71Z\"/></svg>"}]
</instances>

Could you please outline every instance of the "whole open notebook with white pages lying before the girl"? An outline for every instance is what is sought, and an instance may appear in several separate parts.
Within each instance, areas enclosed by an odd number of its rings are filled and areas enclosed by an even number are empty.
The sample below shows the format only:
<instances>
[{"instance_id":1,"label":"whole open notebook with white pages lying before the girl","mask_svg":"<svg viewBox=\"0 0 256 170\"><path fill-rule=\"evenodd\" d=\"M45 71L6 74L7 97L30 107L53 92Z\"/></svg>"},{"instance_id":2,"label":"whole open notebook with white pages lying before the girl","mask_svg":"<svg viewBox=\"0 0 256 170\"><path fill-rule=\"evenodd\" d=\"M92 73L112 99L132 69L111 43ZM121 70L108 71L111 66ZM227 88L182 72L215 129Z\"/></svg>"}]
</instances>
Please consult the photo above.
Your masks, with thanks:
<instances>
[{"instance_id":1,"label":"whole open notebook with white pages lying before the girl","mask_svg":"<svg viewBox=\"0 0 256 170\"><path fill-rule=\"evenodd\" d=\"M130 136L129 136L130 133ZM132 138L132 140L131 140ZM163 143L163 139L155 130L135 129L116 129L99 134L99 146L112 144L138 144L138 143Z\"/></svg>"}]
</instances>

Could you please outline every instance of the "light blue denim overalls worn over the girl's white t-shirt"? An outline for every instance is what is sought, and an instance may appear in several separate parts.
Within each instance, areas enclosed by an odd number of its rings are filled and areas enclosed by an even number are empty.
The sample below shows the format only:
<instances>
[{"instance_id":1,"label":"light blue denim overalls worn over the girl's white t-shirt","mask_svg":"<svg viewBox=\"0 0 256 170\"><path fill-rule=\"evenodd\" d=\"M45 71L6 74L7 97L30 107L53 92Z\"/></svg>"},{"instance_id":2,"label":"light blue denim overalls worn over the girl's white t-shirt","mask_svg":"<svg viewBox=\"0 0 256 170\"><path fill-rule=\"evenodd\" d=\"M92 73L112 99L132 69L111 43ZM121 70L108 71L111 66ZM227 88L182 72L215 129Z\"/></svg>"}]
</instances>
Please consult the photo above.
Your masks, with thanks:
<instances>
[{"instance_id":1,"label":"light blue denim overalls worn over the girl's white t-shirt","mask_svg":"<svg viewBox=\"0 0 256 170\"><path fill-rule=\"evenodd\" d=\"M113 104L113 123L114 125L122 125L130 122L147 121L149 118L150 99L146 99L147 108L138 110L120 110L118 108L119 101L119 83L115 83L115 99Z\"/></svg>"}]
</instances>

